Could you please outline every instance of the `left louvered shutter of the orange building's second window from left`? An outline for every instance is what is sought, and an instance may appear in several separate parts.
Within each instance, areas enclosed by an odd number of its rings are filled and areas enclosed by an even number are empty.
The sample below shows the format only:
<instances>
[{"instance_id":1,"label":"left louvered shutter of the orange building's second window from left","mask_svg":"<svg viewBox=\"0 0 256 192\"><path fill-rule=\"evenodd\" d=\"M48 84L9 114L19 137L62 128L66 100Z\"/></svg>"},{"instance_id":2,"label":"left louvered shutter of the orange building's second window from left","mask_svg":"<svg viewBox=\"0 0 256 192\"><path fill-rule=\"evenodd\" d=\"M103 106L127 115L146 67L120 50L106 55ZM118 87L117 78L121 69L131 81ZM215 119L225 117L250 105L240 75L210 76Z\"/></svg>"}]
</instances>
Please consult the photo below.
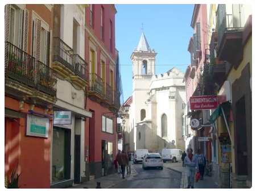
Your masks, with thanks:
<instances>
[{"instance_id":1,"label":"left louvered shutter of the orange building's second window from left","mask_svg":"<svg viewBox=\"0 0 256 192\"><path fill-rule=\"evenodd\" d=\"M35 83L40 80L41 20L35 20Z\"/></svg>"}]
</instances>

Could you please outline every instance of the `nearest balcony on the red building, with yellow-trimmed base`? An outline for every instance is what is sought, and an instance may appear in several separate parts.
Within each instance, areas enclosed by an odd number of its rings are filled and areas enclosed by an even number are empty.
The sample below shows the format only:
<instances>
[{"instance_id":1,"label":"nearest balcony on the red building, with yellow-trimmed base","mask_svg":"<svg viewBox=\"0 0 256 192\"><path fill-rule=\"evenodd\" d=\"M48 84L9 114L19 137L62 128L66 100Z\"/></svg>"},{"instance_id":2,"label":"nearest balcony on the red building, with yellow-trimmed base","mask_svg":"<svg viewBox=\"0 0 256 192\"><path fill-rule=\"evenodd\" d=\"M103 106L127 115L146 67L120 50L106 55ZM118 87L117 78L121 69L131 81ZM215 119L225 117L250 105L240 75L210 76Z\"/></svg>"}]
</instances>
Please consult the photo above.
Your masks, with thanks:
<instances>
[{"instance_id":1,"label":"nearest balcony on the red building, with yellow-trimmed base","mask_svg":"<svg viewBox=\"0 0 256 192\"><path fill-rule=\"evenodd\" d=\"M104 99L104 83L96 73L90 73L88 96L98 102Z\"/></svg>"}]
</instances>

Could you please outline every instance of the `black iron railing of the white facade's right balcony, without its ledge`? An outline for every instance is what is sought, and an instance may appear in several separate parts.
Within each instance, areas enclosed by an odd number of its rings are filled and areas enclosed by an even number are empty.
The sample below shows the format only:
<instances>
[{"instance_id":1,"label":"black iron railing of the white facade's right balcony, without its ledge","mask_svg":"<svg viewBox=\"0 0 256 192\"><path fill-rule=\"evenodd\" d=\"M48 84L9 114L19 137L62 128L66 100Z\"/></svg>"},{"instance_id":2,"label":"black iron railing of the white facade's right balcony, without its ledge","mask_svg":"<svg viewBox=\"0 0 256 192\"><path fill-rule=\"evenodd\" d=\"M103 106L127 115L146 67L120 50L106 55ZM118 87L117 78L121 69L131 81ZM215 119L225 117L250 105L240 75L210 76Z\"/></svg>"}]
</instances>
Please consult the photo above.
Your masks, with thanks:
<instances>
[{"instance_id":1,"label":"black iron railing of the white facade's right balcony, without its ledge","mask_svg":"<svg viewBox=\"0 0 256 192\"><path fill-rule=\"evenodd\" d=\"M87 63L79 55L73 55L73 66L75 66L75 74L85 81L88 81Z\"/></svg>"}]
</instances>

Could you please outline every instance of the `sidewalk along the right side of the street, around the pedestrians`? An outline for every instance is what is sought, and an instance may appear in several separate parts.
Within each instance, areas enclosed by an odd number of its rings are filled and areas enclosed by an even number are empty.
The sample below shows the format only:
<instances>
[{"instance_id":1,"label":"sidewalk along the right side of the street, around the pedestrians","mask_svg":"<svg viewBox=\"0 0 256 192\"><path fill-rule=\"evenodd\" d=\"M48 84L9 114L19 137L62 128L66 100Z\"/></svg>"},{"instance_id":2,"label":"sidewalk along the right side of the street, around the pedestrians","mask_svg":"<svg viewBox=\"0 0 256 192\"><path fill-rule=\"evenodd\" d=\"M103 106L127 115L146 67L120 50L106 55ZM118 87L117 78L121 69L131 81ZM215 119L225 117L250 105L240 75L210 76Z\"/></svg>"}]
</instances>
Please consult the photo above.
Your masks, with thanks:
<instances>
[{"instance_id":1,"label":"sidewalk along the right side of the street, around the pedestrians","mask_svg":"<svg viewBox=\"0 0 256 192\"><path fill-rule=\"evenodd\" d=\"M187 173L185 172L185 168L182 166L182 162L166 162L164 163L164 167L168 169L175 170L176 172L181 172L182 177L180 181L180 188L187 188L188 186L188 179L187 179ZM217 183L213 181L214 177L208 177L204 176L204 180L199 182L195 182L195 188L197 189L217 189Z\"/></svg>"}]
</instances>

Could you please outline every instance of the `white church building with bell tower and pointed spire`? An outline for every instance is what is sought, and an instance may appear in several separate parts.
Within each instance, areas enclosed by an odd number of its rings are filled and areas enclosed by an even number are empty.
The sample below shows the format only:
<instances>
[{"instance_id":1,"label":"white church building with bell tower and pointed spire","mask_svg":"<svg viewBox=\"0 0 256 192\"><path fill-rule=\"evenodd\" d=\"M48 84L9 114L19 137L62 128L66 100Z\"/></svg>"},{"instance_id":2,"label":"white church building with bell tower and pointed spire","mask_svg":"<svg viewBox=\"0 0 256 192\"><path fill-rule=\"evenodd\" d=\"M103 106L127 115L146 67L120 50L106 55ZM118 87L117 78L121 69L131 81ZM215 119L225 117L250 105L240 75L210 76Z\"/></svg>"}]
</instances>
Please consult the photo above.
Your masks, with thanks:
<instances>
[{"instance_id":1,"label":"white church building with bell tower and pointed spire","mask_svg":"<svg viewBox=\"0 0 256 192\"><path fill-rule=\"evenodd\" d=\"M124 103L130 106L129 115L123 121L123 149L126 151L185 149L182 137L184 74L177 68L155 74L156 54L142 32L131 54L133 94Z\"/></svg>"}]
</instances>

